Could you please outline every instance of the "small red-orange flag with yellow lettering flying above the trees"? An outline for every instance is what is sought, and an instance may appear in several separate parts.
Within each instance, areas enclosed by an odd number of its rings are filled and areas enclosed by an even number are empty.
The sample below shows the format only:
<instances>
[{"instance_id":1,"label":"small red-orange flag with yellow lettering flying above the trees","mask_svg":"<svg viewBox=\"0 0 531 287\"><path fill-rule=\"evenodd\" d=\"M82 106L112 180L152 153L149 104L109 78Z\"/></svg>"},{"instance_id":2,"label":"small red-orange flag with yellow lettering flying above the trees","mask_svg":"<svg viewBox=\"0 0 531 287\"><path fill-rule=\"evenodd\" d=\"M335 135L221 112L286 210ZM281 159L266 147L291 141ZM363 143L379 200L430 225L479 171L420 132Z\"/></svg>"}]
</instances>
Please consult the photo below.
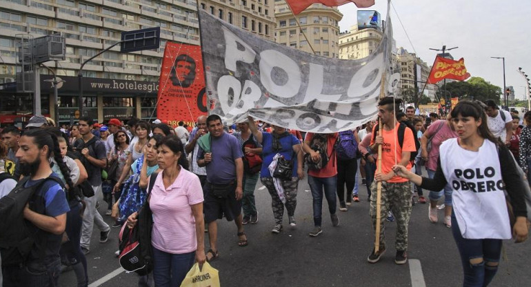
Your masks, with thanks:
<instances>
[{"instance_id":1,"label":"small red-orange flag with yellow lettering flying above the trees","mask_svg":"<svg viewBox=\"0 0 531 287\"><path fill-rule=\"evenodd\" d=\"M428 83L437 83L443 79L464 81L469 77L470 74L466 72L465 59L461 58L459 61L454 61L437 56L430 77L428 77Z\"/></svg>"}]
</instances>

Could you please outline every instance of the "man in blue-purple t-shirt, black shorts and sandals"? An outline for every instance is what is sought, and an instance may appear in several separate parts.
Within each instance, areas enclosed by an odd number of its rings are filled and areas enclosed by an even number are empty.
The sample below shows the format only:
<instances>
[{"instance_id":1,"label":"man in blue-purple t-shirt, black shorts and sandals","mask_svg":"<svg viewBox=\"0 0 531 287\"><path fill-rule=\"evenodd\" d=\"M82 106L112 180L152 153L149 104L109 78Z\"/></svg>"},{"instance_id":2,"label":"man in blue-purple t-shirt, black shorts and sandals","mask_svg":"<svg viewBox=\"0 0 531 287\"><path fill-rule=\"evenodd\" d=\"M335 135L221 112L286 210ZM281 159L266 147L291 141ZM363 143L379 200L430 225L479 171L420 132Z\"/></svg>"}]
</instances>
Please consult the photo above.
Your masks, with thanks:
<instances>
[{"instance_id":1,"label":"man in blue-purple t-shirt, black shorts and sandals","mask_svg":"<svg viewBox=\"0 0 531 287\"><path fill-rule=\"evenodd\" d=\"M209 134L199 143L197 165L206 167L205 184L205 222L208 224L210 250L207 260L219 256L217 250L217 219L223 218L236 223L238 227L238 246L247 246L247 236L243 232L241 199L243 197L243 152L236 137L223 130L223 123L218 115L206 119Z\"/></svg>"}]
</instances>

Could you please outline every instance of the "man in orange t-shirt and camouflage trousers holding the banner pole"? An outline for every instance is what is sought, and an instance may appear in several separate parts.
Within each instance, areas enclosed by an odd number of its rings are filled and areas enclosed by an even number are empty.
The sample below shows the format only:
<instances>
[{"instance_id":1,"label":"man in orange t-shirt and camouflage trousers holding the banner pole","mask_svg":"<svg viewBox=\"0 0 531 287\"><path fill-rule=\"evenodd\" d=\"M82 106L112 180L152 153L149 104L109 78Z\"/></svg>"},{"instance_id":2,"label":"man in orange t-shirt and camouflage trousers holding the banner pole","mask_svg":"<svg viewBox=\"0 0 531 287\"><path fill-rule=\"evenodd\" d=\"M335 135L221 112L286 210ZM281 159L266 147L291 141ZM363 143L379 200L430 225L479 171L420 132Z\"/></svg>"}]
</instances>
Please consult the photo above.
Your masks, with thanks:
<instances>
[{"instance_id":1,"label":"man in orange t-shirt and camouflage trousers holding the banner pole","mask_svg":"<svg viewBox=\"0 0 531 287\"><path fill-rule=\"evenodd\" d=\"M379 261L381 255L385 252L385 234L383 220L391 210L397 219L397 239L395 248L397 255L394 259L396 264L405 264L408 261L406 250L408 249L408 224L411 215L411 189L407 179L397 177L392 170L394 164L405 166L411 169L410 152L415 152L413 132L407 126L399 123L395 117L399 112L399 99L393 97L384 97L378 103L378 117L383 128L379 130L374 126L370 148L378 152L378 146L382 146L381 162L377 163L377 170L381 164L381 172L374 175L374 183L371 186L370 196L370 217L372 227L380 224L380 247L379 251L372 253L368 257L370 263ZM403 125L403 126L402 126ZM380 222L377 222L377 181L381 181L381 210Z\"/></svg>"}]
</instances>

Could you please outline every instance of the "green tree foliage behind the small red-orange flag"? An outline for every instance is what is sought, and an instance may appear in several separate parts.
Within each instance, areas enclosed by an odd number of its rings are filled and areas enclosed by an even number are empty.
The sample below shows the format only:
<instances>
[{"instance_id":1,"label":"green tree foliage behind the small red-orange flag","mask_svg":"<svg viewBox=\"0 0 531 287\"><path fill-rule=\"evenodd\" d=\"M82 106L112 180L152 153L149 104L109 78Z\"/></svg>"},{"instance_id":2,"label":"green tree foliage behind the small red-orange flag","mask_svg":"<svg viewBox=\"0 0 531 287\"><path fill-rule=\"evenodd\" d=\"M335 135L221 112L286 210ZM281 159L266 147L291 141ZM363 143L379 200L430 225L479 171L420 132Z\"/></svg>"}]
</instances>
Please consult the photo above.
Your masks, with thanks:
<instances>
[{"instance_id":1,"label":"green tree foliage behind the small red-orange flag","mask_svg":"<svg viewBox=\"0 0 531 287\"><path fill-rule=\"evenodd\" d=\"M441 86L441 90L444 90L444 86ZM468 81L454 81L446 83L446 88L452 97L459 97L459 99L477 99L479 101L485 101L487 99L493 99L496 103L500 103L501 88L494 86L492 83L485 81L481 77L471 77ZM438 95L446 94L441 91Z\"/></svg>"}]
</instances>

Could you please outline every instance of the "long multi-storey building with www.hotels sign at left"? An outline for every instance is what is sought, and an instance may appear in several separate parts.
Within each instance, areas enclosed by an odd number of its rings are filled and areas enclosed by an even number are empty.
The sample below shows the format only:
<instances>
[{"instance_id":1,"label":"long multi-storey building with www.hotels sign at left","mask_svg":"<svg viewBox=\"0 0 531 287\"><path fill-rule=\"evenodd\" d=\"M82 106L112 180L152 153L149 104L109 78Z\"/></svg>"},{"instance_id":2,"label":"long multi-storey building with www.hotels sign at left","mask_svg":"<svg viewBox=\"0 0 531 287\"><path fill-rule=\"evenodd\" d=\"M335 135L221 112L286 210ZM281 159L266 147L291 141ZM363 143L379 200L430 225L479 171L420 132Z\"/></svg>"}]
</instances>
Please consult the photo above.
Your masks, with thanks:
<instances>
[{"instance_id":1,"label":"long multi-storey building with www.hotels sign at left","mask_svg":"<svg viewBox=\"0 0 531 287\"><path fill-rule=\"evenodd\" d=\"M265 1L265 0L263 0ZM49 61L46 66L65 81L54 103L52 73L40 68L41 109L59 121L76 115L77 74L81 63L117 43L122 31L161 27L160 48L119 53L119 46L88 62L81 74L83 114L97 121L111 117L156 117L155 103L161 59L167 41L199 45L197 2L192 0L4 0L0 8L0 124L21 124L32 114L32 95L18 93L17 37L37 38L61 33L66 37L66 60ZM26 36L28 37L28 36ZM19 67L20 68L20 67Z\"/></svg>"}]
</instances>

